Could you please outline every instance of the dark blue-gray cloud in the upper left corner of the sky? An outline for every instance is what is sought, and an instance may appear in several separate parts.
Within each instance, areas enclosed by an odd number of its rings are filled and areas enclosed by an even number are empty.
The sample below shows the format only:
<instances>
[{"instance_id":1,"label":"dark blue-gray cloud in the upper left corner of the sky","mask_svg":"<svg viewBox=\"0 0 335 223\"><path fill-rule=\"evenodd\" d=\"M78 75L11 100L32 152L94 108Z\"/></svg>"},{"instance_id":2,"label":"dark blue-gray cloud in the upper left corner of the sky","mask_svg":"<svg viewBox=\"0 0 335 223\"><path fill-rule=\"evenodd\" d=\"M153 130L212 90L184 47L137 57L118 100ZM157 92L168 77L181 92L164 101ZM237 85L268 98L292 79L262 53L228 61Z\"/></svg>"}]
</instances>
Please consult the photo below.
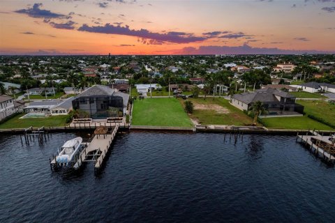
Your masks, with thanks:
<instances>
[{"instance_id":1,"label":"dark blue-gray cloud in the upper left corner of the sky","mask_svg":"<svg viewBox=\"0 0 335 223\"><path fill-rule=\"evenodd\" d=\"M16 10L15 13L22 13L22 14L28 15L29 17L44 18L44 19L66 17L66 15L52 13L50 10L40 9L41 6L43 6L42 3L34 3L33 7L27 8L27 9Z\"/></svg>"}]
</instances>

